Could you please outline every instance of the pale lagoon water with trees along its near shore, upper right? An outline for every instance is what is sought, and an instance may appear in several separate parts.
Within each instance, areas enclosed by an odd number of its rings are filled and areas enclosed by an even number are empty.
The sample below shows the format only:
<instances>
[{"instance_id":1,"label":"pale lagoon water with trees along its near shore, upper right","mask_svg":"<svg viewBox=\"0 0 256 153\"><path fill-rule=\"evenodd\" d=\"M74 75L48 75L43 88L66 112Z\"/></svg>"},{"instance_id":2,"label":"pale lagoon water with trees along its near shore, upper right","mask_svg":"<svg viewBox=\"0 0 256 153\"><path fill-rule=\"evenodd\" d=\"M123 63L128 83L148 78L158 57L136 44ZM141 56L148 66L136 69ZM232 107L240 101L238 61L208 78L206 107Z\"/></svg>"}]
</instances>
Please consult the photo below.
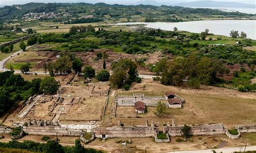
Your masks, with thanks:
<instances>
[{"instance_id":1,"label":"pale lagoon water with trees along its near shore, upper right","mask_svg":"<svg viewBox=\"0 0 256 153\"><path fill-rule=\"evenodd\" d=\"M256 40L256 20L199 20L191 22L134 22L118 23L116 25L136 25L145 24L145 27L172 31L173 27L178 30L200 33L209 29L210 33L215 35L230 36L231 30L237 30L239 33L244 31L247 38Z\"/></svg>"}]
</instances>

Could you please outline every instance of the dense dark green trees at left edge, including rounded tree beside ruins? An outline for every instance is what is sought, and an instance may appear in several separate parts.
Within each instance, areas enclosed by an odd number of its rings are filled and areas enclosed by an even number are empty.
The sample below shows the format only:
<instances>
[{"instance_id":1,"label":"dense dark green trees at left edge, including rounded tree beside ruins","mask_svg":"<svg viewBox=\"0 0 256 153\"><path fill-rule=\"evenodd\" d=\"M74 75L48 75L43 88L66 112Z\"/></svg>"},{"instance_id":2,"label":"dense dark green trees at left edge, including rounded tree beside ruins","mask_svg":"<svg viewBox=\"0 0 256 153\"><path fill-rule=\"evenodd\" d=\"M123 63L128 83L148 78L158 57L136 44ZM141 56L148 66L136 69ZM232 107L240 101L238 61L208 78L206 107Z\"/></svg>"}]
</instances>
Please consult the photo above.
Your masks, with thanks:
<instances>
[{"instance_id":1,"label":"dense dark green trees at left edge, including rounded tree beside ruins","mask_svg":"<svg viewBox=\"0 0 256 153\"><path fill-rule=\"evenodd\" d=\"M26 100L38 93L53 94L59 88L54 78L46 77L43 80L33 79L25 81L21 75L13 71L0 73L0 115L15 105L16 102Z\"/></svg>"}]
</instances>

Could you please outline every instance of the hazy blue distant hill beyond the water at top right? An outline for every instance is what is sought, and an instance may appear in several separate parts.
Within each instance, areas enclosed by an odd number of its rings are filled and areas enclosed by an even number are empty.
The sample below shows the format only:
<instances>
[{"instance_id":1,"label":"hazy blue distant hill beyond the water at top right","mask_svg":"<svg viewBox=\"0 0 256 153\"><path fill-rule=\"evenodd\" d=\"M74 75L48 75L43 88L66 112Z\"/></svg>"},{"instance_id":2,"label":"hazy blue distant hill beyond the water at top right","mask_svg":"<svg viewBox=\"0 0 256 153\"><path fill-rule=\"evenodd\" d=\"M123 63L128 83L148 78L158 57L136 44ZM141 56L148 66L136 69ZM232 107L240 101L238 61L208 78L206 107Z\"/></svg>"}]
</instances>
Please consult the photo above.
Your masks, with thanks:
<instances>
[{"instance_id":1,"label":"hazy blue distant hill beyond the water at top right","mask_svg":"<svg viewBox=\"0 0 256 153\"><path fill-rule=\"evenodd\" d=\"M218 2L218 1L195 1L179 3L176 6L184 7L218 7L218 8L256 8L256 5L237 3L237 2Z\"/></svg>"}]
</instances>

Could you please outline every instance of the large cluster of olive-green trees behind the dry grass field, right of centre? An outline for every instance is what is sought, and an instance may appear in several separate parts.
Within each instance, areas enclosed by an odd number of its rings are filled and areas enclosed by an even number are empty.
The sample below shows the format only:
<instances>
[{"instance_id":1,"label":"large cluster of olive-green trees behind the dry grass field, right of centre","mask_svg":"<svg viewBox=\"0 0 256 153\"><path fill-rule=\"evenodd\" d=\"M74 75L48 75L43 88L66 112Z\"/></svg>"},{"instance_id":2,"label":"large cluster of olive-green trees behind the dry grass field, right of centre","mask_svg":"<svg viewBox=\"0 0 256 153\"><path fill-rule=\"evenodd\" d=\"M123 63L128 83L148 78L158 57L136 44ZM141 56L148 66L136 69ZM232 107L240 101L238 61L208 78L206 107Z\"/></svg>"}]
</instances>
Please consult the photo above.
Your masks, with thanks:
<instances>
[{"instance_id":1,"label":"large cluster of olive-green trees behind the dry grass field, right of centre","mask_svg":"<svg viewBox=\"0 0 256 153\"><path fill-rule=\"evenodd\" d=\"M188 85L199 88L200 85L210 85L218 81L216 74L227 73L228 70L219 60L198 58L191 55L187 58L178 57L174 60L164 58L160 60L154 72L160 75L160 82L164 85L181 85L188 76Z\"/></svg>"}]
</instances>

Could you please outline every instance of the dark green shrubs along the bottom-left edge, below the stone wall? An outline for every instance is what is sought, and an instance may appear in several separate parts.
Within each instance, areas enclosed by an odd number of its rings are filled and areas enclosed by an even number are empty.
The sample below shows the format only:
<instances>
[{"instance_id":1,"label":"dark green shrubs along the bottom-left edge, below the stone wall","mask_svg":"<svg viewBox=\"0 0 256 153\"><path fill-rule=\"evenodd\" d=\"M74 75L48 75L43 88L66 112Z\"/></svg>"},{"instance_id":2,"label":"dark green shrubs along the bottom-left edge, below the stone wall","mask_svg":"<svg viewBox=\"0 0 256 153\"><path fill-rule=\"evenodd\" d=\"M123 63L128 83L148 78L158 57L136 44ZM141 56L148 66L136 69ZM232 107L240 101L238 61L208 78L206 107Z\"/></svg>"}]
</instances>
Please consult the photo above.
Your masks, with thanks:
<instances>
[{"instance_id":1,"label":"dark green shrubs along the bottom-left edge, below the stone wall","mask_svg":"<svg viewBox=\"0 0 256 153\"><path fill-rule=\"evenodd\" d=\"M75 141L75 146L72 147L64 147L60 145L55 140L48 140L47 143L38 143L33 141L10 141L10 142L0 142L0 148L9 148L9 149L24 149L32 152L48 152L48 153L64 153L64 152L102 152L95 149L87 149L84 148L80 143L80 140Z\"/></svg>"}]
</instances>

